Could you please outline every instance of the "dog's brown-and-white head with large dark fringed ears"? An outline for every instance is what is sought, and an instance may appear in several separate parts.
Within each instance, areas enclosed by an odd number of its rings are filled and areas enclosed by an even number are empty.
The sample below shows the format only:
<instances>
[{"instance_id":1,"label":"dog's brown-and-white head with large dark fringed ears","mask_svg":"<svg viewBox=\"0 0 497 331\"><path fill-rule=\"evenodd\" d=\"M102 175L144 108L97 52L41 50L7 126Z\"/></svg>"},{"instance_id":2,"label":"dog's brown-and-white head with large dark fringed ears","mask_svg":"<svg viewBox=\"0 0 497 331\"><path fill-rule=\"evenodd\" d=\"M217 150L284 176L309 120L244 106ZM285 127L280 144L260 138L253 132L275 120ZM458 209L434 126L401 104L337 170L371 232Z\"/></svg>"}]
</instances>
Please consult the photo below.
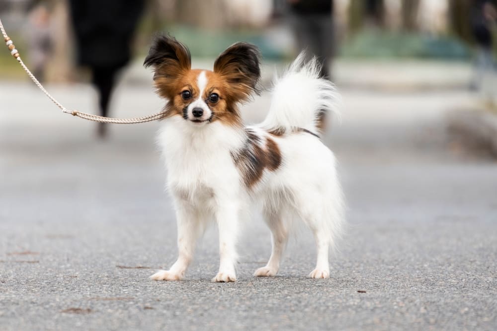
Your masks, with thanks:
<instances>
[{"instance_id":1,"label":"dog's brown-and-white head with large dark fringed ears","mask_svg":"<svg viewBox=\"0 0 497 331\"><path fill-rule=\"evenodd\" d=\"M240 123L237 104L260 92L260 52L236 43L214 62L214 70L191 68L190 51L170 36L157 36L145 59L154 67L160 96L167 99L166 116L181 116L192 125L214 121Z\"/></svg>"}]
</instances>

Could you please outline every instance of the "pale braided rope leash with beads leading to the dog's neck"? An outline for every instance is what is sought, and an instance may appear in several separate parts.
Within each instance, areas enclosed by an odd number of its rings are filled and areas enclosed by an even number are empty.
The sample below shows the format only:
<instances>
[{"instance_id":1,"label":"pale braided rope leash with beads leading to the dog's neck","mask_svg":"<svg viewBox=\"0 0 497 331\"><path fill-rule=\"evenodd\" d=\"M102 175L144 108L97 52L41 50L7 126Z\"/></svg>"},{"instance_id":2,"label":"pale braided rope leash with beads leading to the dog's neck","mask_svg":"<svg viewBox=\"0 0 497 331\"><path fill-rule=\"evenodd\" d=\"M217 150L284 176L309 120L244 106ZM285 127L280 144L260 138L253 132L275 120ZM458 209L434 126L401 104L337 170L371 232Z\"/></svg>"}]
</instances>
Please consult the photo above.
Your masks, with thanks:
<instances>
[{"instance_id":1,"label":"pale braided rope leash with beads leading to the dog's neck","mask_svg":"<svg viewBox=\"0 0 497 331\"><path fill-rule=\"evenodd\" d=\"M3 40L5 41L5 45L7 45L8 50L10 51L10 55L12 55L17 62L22 66L24 71L28 74L29 78L42 90L45 95L52 100L54 104L59 107L63 113L65 114L71 114L73 116L77 116L79 118L82 118L84 120L88 121L93 121L93 122L100 122L100 123L115 123L115 124L135 124L135 123L145 123L145 122L152 122L156 120L160 120L161 118L164 117L165 112L160 112L156 114L152 114L149 116L143 116L143 117L135 117L131 119L115 119L115 118L110 118L110 117L103 117L103 116L98 116L98 115L93 115L93 114L87 114L83 112L79 112L77 110L68 110L66 107L64 107L60 102L58 102L48 91L43 87L43 85L36 79L36 77L31 73L31 71L28 69L28 67L22 62L21 56L19 55L19 51L15 49L14 43L12 40L7 36L7 33L5 32L5 29L3 28L3 24L0 19L0 30L1 34L3 36Z\"/></svg>"}]
</instances>

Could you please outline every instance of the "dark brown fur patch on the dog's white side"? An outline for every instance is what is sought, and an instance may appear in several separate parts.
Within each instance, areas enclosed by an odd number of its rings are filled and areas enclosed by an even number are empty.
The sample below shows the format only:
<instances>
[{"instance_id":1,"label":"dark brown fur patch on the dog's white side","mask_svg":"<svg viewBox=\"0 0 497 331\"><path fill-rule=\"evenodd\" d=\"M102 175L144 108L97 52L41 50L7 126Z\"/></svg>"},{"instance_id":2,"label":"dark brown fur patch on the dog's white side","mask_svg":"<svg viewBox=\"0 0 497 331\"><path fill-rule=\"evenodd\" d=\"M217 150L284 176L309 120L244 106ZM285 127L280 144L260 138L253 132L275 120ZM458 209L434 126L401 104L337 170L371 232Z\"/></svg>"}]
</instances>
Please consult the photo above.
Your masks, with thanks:
<instances>
[{"instance_id":1,"label":"dark brown fur patch on the dog's white side","mask_svg":"<svg viewBox=\"0 0 497 331\"><path fill-rule=\"evenodd\" d=\"M265 168L275 171L281 164L281 153L277 143L266 138L265 148L261 147L261 137L250 129L246 129L247 141L245 146L231 156L240 170L245 185L250 188L257 183Z\"/></svg>"}]
</instances>

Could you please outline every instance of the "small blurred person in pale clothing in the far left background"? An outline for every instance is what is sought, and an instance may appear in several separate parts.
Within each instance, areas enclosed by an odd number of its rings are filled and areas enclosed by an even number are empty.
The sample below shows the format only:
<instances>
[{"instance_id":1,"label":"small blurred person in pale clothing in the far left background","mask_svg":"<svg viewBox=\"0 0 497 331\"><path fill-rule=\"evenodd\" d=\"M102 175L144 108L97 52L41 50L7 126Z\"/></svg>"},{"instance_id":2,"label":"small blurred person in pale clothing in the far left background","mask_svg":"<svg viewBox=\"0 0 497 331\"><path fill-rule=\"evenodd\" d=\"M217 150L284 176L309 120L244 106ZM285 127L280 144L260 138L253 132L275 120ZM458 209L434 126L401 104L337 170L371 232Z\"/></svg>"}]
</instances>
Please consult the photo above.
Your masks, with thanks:
<instances>
[{"instance_id":1,"label":"small blurred person in pale clothing in the far left background","mask_svg":"<svg viewBox=\"0 0 497 331\"><path fill-rule=\"evenodd\" d=\"M50 21L50 12L43 4L34 7L29 14L29 60L39 81L45 79L45 69L53 54Z\"/></svg>"}]
</instances>

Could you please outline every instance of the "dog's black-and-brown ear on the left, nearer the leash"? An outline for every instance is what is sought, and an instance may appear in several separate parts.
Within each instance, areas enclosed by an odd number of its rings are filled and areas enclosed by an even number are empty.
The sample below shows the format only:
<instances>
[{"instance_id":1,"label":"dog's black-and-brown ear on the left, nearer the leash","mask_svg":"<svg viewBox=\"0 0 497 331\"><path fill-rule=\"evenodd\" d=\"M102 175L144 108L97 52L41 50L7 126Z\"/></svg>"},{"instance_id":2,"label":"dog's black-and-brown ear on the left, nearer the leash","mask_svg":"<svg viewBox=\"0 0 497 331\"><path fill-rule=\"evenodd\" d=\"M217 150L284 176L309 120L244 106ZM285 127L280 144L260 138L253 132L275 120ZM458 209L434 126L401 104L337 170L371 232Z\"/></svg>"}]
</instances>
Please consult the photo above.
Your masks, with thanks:
<instances>
[{"instance_id":1,"label":"dog's black-and-brown ear on the left, nearer the leash","mask_svg":"<svg viewBox=\"0 0 497 331\"><path fill-rule=\"evenodd\" d=\"M174 37L158 35L143 65L154 66L154 80L162 77L174 79L191 69L190 51Z\"/></svg>"}]
</instances>

